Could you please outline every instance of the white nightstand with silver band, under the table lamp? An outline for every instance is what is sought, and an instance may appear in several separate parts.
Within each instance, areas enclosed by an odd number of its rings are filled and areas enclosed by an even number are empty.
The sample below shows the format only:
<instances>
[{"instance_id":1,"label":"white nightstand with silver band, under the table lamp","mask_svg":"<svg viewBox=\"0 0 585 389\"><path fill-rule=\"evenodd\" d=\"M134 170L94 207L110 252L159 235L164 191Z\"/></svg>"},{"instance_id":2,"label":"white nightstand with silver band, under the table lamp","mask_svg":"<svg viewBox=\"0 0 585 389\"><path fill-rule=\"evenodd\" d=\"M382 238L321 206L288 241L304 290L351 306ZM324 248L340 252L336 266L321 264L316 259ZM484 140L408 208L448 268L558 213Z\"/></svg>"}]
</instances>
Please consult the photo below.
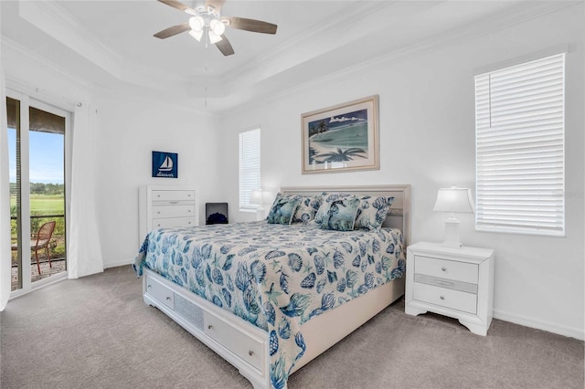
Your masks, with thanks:
<instances>
[{"instance_id":1,"label":"white nightstand with silver band, under the table lamp","mask_svg":"<svg viewBox=\"0 0 585 389\"><path fill-rule=\"evenodd\" d=\"M494 250L418 242L407 249L409 315L431 311L486 335L493 316Z\"/></svg>"}]
</instances>

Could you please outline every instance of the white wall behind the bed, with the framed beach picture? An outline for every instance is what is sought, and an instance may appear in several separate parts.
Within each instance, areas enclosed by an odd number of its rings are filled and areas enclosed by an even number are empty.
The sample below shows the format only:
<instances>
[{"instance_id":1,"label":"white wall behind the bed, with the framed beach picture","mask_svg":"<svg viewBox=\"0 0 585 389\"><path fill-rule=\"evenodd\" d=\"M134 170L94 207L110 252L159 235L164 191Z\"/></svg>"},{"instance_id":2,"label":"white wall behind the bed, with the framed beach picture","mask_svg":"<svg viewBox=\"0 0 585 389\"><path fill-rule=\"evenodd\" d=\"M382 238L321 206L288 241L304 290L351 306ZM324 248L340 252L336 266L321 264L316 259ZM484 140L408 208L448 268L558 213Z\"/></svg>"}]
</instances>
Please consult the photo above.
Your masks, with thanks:
<instances>
[{"instance_id":1,"label":"white wall behind the bed, with the framed beach picture","mask_svg":"<svg viewBox=\"0 0 585 389\"><path fill-rule=\"evenodd\" d=\"M564 46L567 56L567 236L533 237L475 232L460 217L467 246L492 247L495 317L583 338L583 5L489 35L469 37L426 54L388 58L352 74L329 77L241 107L219 120L228 148L224 190L238 204L238 132L261 125L262 186L411 184L412 240L441 241L444 215L433 213L439 187L474 188L474 91L478 70L511 65ZM301 173L301 114L379 95L381 167L355 173ZM235 213L235 220L252 220Z\"/></svg>"}]
</instances>

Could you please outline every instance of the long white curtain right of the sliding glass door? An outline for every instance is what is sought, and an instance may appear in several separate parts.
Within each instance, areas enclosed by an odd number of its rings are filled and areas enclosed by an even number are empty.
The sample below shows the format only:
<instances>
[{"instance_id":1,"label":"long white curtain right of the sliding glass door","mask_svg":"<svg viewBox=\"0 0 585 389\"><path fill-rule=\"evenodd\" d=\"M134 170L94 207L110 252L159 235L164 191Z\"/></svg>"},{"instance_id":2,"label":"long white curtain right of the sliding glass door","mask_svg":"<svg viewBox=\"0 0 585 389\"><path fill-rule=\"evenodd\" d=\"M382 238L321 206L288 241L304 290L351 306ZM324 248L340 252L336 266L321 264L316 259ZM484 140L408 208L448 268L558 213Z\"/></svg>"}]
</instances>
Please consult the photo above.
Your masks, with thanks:
<instances>
[{"instance_id":1,"label":"long white curtain right of the sliding glass door","mask_svg":"<svg viewBox=\"0 0 585 389\"><path fill-rule=\"evenodd\" d=\"M97 113L78 104L73 119L71 205L69 210L69 279L103 271L96 211Z\"/></svg>"}]
</instances>

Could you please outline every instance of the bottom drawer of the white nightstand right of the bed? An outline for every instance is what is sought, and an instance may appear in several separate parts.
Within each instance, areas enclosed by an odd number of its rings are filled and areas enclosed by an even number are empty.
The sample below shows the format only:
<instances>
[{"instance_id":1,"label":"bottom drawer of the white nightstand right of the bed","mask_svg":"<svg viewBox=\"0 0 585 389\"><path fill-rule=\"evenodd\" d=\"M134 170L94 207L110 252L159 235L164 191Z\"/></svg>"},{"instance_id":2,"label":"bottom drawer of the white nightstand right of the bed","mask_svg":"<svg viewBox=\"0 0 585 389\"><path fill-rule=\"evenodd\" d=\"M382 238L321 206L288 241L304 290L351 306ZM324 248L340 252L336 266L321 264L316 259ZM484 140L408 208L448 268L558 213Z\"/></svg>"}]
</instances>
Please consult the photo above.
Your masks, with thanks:
<instances>
[{"instance_id":1,"label":"bottom drawer of the white nightstand right of the bed","mask_svg":"<svg viewBox=\"0 0 585 389\"><path fill-rule=\"evenodd\" d=\"M428 302L452 310L477 313L477 296L459 290L444 289L417 282L414 288L414 300Z\"/></svg>"}]
</instances>

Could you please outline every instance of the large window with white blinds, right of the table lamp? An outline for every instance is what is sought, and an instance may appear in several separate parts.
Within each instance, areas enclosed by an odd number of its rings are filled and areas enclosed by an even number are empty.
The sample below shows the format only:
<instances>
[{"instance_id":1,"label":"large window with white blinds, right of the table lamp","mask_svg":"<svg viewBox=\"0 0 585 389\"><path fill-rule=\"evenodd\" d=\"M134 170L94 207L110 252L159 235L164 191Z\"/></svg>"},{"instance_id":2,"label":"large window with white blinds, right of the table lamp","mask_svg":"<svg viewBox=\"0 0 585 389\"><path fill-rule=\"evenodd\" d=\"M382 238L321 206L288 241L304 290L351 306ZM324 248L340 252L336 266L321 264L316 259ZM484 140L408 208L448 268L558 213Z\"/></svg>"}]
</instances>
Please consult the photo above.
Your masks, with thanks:
<instances>
[{"instance_id":1,"label":"large window with white blinds, right of the table lamp","mask_svg":"<svg viewBox=\"0 0 585 389\"><path fill-rule=\"evenodd\" d=\"M565 54L475 77L475 227L564 236Z\"/></svg>"}]
</instances>

